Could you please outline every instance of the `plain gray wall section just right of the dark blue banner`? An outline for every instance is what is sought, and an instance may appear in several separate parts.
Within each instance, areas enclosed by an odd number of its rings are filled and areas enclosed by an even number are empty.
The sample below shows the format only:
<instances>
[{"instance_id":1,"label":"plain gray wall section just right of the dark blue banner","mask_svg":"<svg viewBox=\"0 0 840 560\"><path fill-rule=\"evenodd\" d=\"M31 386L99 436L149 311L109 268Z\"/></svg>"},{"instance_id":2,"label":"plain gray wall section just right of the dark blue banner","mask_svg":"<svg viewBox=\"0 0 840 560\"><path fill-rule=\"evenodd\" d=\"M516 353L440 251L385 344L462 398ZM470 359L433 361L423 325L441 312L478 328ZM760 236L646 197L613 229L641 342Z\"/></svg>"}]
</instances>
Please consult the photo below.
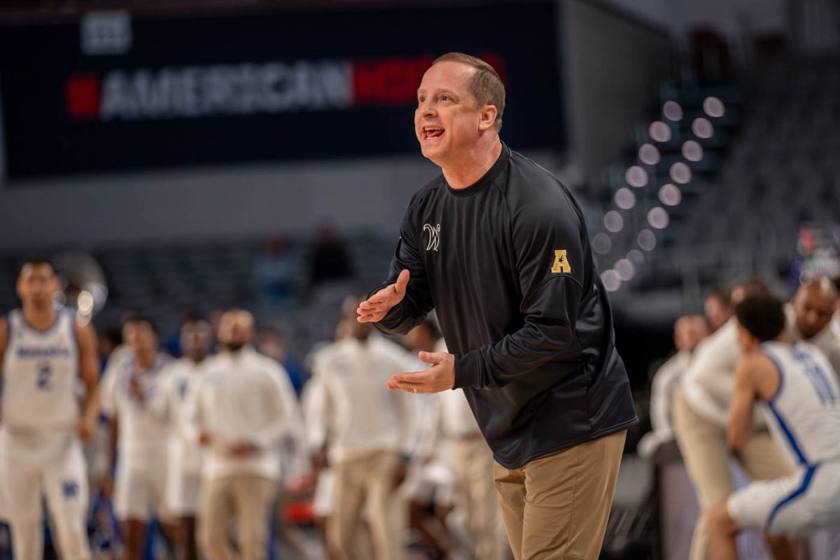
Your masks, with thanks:
<instances>
[{"instance_id":1,"label":"plain gray wall section just right of the dark blue banner","mask_svg":"<svg viewBox=\"0 0 840 560\"><path fill-rule=\"evenodd\" d=\"M664 30L604 3L564 0L564 83L572 159L591 185L632 142L633 128L669 71Z\"/></svg>"}]
</instances>

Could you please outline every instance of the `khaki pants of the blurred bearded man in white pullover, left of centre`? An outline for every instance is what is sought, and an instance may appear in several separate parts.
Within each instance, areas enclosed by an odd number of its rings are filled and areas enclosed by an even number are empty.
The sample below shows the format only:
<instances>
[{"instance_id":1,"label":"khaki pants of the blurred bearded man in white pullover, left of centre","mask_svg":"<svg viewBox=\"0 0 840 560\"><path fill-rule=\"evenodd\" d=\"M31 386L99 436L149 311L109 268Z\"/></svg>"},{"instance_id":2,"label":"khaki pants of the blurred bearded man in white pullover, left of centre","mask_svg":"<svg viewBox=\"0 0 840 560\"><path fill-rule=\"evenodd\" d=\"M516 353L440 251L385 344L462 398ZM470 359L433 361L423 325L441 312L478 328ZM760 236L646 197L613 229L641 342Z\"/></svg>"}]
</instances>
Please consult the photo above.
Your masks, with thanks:
<instances>
[{"instance_id":1,"label":"khaki pants of the blurred bearded man in white pullover, left of centre","mask_svg":"<svg viewBox=\"0 0 840 560\"><path fill-rule=\"evenodd\" d=\"M210 560L263 560L265 558L271 505L277 483L260 476L238 475L205 479L199 505L198 541ZM231 517L234 518L239 555L231 547Z\"/></svg>"}]
</instances>

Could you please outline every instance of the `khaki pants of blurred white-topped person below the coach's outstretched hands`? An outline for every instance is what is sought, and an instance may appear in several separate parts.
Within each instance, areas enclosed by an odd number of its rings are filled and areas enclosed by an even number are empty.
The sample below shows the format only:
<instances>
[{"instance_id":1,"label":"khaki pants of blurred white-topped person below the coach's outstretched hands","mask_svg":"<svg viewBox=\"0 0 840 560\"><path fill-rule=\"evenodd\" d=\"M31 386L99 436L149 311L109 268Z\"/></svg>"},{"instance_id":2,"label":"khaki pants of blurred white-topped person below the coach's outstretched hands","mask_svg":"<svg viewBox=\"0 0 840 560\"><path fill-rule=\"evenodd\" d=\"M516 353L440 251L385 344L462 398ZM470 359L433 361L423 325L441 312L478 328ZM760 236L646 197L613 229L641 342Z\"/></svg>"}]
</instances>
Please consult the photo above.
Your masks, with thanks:
<instances>
[{"instance_id":1,"label":"khaki pants of blurred white-topped person below the coach's outstretched hands","mask_svg":"<svg viewBox=\"0 0 840 560\"><path fill-rule=\"evenodd\" d=\"M333 465L335 509L327 526L327 544L339 560L354 557L355 537L367 512L376 560L402 557L407 509L394 488L400 458L381 451Z\"/></svg>"}]
</instances>

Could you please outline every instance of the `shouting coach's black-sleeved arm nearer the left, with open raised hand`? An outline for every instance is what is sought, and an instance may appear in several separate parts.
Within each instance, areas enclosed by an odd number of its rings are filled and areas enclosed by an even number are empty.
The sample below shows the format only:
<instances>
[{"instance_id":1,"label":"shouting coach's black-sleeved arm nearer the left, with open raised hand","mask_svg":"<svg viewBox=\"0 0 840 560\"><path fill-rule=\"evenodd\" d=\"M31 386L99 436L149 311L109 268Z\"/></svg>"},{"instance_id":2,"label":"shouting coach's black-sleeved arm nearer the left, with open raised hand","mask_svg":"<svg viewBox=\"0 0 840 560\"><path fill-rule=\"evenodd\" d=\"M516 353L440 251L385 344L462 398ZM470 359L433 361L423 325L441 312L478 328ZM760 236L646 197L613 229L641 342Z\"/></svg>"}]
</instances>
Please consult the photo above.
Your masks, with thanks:
<instances>
[{"instance_id":1,"label":"shouting coach's black-sleeved arm nearer the left, with open raised hand","mask_svg":"<svg viewBox=\"0 0 840 560\"><path fill-rule=\"evenodd\" d=\"M426 265L418 249L416 233L423 225L413 217L414 201L402 218L388 280L370 290L356 312L359 322L373 322L386 334L406 334L432 311Z\"/></svg>"}]
</instances>

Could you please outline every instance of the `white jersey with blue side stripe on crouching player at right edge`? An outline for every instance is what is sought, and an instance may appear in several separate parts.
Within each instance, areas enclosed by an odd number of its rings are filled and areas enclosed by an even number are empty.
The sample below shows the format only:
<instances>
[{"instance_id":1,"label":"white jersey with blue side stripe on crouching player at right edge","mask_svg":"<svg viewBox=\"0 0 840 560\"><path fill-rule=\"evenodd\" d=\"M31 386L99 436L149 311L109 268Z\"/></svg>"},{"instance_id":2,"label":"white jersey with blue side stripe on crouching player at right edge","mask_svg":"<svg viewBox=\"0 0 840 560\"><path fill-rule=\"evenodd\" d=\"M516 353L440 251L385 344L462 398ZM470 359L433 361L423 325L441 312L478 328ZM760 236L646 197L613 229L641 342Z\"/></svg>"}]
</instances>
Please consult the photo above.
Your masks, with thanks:
<instances>
[{"instance_id":1,"label":"white jersey with blue side stripe on crouching player at right edge","mask_svg":"<svg viewBox=\"0 0 840 560\"><path fill-rule=\"evenodd\" d=\"M808 343L764 343L761 352L779 369L779 390L762 411L795 463L840 459L840 389L825 355Z\"/></svg>"}]
</instances>

